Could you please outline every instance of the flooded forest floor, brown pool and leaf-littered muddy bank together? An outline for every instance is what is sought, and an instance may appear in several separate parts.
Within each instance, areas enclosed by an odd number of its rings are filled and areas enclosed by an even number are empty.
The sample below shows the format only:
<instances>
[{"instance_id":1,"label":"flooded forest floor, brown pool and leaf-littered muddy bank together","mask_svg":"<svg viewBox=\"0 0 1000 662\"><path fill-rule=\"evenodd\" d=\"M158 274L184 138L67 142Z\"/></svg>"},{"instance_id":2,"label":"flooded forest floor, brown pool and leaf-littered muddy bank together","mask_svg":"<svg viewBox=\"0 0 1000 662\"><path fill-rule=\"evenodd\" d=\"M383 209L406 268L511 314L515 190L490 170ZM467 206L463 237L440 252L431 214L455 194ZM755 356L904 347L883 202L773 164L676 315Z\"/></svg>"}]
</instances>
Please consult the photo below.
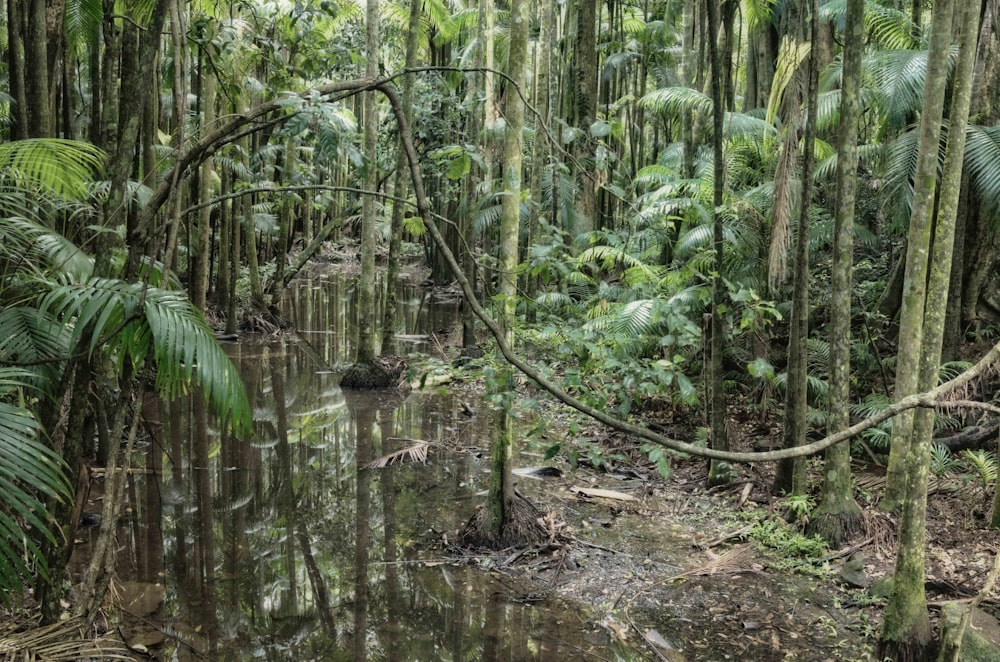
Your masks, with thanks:
<instances>
[{"instance_id":1,"label":"flooded forest floor, brown pool and leaf-littered muddy bank together","mask_svg":"<svg viewBox=\"0 0 1000 662\"><path fill-rule=\"evenodd\" d=\"M672 457L664 477L637 440L521 383L538 405L519 416L516 488L552 540L460 549L484 501L494 431L482 371L452 365L457 294L410 273L398 337L414 389L350 393L338 375L371 311L357 309L356 278L338 269L293 282L282 314L295 332L226 344L252 436L216 429L199 394L144 412L104 610L107 634L135 659L872 659L896 544L894 519L876 508L880 467L855 465L866 532L831 550L802 535L802 516L786 521L773 467L736 467L710 490L703 461ZM690 440L700 415L643 419ZM773 418L734 408L730 420L736 450L780 439ZM88 512L101 511L101 482L95 472ZM982 585L1000 543L992 489L932 479L933 614ZM73 576L96 534L78 534Z\"/></svg>"}]
</instances>

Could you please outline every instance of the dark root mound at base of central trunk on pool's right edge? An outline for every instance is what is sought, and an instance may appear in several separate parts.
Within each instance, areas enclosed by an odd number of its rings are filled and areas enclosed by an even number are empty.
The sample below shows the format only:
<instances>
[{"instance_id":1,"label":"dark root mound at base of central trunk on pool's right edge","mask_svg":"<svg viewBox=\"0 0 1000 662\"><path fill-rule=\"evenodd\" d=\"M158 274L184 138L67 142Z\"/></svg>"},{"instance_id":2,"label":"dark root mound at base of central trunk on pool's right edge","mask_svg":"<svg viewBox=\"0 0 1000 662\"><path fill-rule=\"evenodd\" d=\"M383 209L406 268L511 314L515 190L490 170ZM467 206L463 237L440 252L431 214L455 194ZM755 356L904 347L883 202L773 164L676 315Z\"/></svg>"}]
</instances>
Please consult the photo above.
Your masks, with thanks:
<instances>
[{"instance_id":1,"label":"dark root mound at base of central trunk on pool's right edge","mask_svg":"<svg viewBox=\"0 0 1000 662\"><path fill-rule=\"evenodd\" d=\"M507 521L499 536L490 533L489 509L479 508L458 534L459 544L499 550L525 545L561 545L570 539L566 525L554 513L544 515L523 497L507 500L504 510Z\"/></svg>"}]
</instances>

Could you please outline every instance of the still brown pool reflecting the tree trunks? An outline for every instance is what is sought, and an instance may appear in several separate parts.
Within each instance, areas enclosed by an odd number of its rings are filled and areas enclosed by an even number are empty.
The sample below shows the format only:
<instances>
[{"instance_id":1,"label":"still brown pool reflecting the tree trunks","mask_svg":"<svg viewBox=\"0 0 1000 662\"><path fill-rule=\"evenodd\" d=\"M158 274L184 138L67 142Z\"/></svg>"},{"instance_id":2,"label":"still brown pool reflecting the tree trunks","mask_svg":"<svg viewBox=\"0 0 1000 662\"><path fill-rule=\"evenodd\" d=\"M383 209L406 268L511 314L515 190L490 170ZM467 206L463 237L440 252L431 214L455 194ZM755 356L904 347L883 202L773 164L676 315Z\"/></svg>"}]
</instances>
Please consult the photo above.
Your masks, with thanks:
<instances>
[{"instance_id":1,"label":"still brown pool reflecting the tree trunks","mask_svg":"<svg viewBox=\"0 0 1000 662\"><path fill-rule=\"evenodd\" d=\"M400 332L452 326L454 301L402 291ZM114 588L136 650L170 660L639 659L580 606L523 600L500 574L440 551L481 501L488 416L445 392L350 394L333 369L363 314L349 282L303 281L297 337L228 345L255 432L200 398L148 405ZM402 352L428 348L411 343ZM368 469L434 441L426 464ZM97 507L97 504L95 504ZM523 596L522 596L523 597Z\"/></svg>"}]
</instances>

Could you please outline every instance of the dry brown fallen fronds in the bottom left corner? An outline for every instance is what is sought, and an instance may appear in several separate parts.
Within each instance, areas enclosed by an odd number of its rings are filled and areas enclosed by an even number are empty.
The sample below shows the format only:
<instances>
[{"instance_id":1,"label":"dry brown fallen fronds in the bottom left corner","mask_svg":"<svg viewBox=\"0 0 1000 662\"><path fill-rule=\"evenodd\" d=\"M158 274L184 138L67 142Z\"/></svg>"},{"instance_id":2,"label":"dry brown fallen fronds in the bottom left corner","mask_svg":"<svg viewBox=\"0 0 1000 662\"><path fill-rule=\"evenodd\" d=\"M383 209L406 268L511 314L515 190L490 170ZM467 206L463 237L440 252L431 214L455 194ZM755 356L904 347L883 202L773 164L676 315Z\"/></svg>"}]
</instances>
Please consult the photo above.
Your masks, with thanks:
<instances>
[{"instance_id":1,"label":"dry brown fallen fronds in the bottom left corner","mask_svg":"<svg viewBox=\"0 0 1000 662\"><path fill-rule=\"evenodd\" d=\"M11 625L0 632L0 658L5 660L132 660L121 642L84 636L84 619L72 618L20 630Z\"/></svg>"}]
</instances>

